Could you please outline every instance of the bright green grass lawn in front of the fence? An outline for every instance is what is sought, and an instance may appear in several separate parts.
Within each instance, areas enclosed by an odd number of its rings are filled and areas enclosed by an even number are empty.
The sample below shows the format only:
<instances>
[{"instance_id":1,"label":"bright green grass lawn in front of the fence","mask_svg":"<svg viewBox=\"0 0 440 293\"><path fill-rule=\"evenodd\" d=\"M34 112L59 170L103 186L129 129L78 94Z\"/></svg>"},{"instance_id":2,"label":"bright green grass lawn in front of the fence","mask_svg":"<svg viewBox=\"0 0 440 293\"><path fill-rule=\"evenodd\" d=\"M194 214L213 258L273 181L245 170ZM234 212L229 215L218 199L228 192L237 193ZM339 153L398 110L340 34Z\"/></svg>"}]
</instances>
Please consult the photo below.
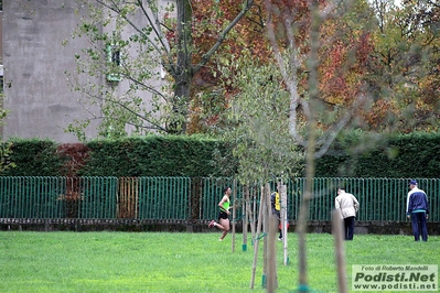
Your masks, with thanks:
<instances>
[{"instance_id":1,"label":"bright green grass lawn in front of the fence","mask_svg":"<svg viewBox=\"0 0 440 293\"><path fill-rule=\"evenodd\" d=\"M218 237L219 232L2 231L0 292L265 292L262 250L250 290L250 240L243 251L237 235L232 252L230 235L223 242ZM297 235L288 239L289 265L282 264L282 243L277 241L277 292L298 287ZM333 237L310 234L307 239L310 287L337 292ZM440 237L415 242L411 236L355 235L344 246L348 280L352 264L440 264Z\"/></svg>"}]
</instances>

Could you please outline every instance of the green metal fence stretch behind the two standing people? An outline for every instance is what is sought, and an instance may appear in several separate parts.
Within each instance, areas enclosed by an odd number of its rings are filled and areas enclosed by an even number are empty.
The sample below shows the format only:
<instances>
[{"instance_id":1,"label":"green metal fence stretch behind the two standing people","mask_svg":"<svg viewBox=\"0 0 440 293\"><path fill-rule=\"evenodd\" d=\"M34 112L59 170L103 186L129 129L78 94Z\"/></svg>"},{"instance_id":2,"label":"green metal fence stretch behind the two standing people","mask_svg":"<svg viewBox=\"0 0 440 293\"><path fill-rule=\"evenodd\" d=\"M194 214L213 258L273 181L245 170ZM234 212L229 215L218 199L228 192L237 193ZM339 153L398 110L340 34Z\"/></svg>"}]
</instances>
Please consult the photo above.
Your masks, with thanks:
<instances>
[{"instance_id":1,"label":"green metal fence stretch behind the two standing people","mask_svg":"<svg viewBox=\"0 0 440 293\"><path fill-rule=\"evenodd\" d=\"M334 207L336 188L343 186L346 192L354 194L359 202L358 220L406 220L408 182L408 178L314 178L314 199L311 204L310 218L328 220L330 211ZM299 205L299 196L294 197L294 194L300 195L302 193L304 183L305 180L300 178L297 183L288 185L293 188L290 194L293 195L296 207ZM439 221L440 180L419 178L418 185L428 195L430 204L429 221ZM298 213L298 209L292 208ZM297 215L289 214L290 217Z\"/></svg>"}]
</instances>

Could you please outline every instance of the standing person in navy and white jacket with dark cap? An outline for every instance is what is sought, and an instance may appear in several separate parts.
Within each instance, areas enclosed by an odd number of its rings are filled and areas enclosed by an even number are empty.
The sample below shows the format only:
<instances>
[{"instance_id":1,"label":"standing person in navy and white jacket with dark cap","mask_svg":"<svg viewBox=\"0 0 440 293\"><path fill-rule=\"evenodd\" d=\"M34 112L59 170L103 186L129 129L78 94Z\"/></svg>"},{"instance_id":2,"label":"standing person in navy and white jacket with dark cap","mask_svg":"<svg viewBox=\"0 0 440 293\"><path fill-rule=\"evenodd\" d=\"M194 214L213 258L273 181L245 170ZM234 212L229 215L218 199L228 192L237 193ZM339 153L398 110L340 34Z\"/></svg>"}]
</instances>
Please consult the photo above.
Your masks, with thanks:
<instances>
[{"instance_id":1,"label":"standing person in navy and white jacket with dark cap","mask_svg":"<svg viewBox=\"0 0 440 293\"><path fill-rule=\"evenodd\" d=\"M427 194L417 187L417 181L409 182L407 197L407 217L411 219L412 234L415 241L428 241L427 219L429 214L429 204Z\"/></svg>"}]
</instances>

